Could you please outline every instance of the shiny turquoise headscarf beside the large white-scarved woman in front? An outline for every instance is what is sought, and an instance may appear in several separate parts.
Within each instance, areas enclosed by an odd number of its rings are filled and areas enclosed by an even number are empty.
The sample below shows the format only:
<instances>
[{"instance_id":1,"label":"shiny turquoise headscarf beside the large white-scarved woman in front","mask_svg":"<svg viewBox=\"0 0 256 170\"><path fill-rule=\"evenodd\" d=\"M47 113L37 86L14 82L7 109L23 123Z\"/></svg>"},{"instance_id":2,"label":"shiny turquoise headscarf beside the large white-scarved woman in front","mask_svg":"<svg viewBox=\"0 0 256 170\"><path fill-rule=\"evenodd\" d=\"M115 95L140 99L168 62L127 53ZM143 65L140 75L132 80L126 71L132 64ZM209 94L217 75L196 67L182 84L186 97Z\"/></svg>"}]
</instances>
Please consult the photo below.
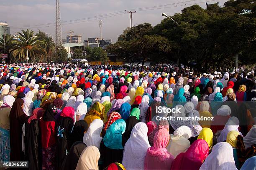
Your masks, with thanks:
<instances>
[{"instance_id":1,"label":"shiny turquoise headscarf beside the large white-scarved woman in front","mask_svg":"<svg viewBox=\"0 0 256 170\"><path fill-rule=\"evenodd\" d=\"M118 119L107 129L103 138L104 145L110 149L123 149L122 134L125 132L125 121Z\"/></svg>"}]
</instances>

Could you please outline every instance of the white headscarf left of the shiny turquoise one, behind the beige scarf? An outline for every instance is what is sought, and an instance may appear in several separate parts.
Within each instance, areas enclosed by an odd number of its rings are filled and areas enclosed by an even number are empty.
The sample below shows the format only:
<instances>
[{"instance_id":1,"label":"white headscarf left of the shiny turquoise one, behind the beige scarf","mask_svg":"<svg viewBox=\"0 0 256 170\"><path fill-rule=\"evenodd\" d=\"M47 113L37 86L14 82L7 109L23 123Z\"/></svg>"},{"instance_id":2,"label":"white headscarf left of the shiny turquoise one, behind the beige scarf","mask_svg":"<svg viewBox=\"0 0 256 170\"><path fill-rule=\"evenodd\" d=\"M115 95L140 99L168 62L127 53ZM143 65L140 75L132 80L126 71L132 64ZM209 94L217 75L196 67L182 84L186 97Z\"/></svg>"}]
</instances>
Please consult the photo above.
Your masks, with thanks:
<instances>
[{"instance_id":1,"label":"white headscarf left of the shiny turquoise one, behind the beige scarf","mask_svg":"<svg viewBox=\"0 0 256 170\"><path fill-rule=\"evenodd\" d=\"M103 125L104 123L102 120L93 120L87 132L84 134L83 143L85 143L87 146L96 146L97 148L100 148L100 142L102 140L100 133Z\"/></svg>"}]
</instances>

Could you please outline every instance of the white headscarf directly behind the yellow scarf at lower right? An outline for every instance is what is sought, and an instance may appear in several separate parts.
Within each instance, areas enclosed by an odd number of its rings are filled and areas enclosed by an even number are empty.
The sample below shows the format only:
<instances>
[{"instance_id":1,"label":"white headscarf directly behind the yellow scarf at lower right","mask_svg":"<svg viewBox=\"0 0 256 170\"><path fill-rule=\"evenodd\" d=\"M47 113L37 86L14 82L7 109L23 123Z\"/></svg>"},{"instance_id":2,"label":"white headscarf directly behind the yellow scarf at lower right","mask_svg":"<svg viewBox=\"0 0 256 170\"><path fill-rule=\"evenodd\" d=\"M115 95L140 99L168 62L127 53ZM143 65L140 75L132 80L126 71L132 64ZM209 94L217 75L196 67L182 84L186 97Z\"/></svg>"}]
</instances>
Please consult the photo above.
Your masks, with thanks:
<instances>
[{"instance_id":1,"label":"white headscarf directly behind the yellow scarf at lower right","mask_svg":"<svg viewBox=\"0 0 256 170\"><path fill-rule=\"evenodd\" d=\"M217 142L219 143L219 142L223 142L224 140L226 140L228 133L230 131L233 131L233 130L238 131L238 127L239 127L239 120L238 120L238 118L235 117L235 116L230 117L228 119L228 122L224 126L223 130L221 131L220 136L217 138Z\"/></svg>"}]
</instances>

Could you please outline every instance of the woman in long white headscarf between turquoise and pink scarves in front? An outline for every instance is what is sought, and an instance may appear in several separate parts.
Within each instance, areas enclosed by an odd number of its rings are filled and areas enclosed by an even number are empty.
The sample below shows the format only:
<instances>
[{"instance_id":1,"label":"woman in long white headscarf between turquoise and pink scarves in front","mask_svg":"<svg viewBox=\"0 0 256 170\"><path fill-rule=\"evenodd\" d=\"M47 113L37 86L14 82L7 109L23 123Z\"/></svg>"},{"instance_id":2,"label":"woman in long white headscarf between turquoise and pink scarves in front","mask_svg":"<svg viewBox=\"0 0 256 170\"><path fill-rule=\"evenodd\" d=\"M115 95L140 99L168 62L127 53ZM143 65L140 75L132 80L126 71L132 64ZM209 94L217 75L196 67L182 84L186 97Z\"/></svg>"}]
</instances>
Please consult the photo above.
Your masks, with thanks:
<instances>
[{"instance_id":1,"label":"woman in long white headscarf between turquoise and pink scarves in front","mask_svg":"<svg viewBox=\"0 0 256 170\"><path fill-rule=\"evenodd\" d=\"M143 169L145 156L150 147L147 137L148 128L145 123L139 122L131 129L131 138L124 147L123 165L127 170Z\"/></svg>"}]
</instances>

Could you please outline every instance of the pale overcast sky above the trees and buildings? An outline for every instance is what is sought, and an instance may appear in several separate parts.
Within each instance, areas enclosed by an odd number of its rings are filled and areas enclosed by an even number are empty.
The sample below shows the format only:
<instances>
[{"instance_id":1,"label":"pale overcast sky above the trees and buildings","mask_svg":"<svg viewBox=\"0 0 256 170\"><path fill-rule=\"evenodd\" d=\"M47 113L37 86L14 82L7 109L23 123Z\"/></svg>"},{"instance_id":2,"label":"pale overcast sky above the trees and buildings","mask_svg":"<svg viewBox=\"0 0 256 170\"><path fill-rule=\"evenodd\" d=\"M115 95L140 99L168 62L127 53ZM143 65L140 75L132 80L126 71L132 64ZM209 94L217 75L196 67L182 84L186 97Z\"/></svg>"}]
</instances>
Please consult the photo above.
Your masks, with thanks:
<instances>
[{"instance_id":1,"label":"pale overcast sky above the trees and buildings","mask_svg":"<svg viewBox=\"0 0 256 170\"><path fill-rule=\"evenodd\" d=\"M99 20L102 20L102 37L104 39L117 40L123 30L129 27L129 13L125 10L153 7L165 5L151 10L138 11L133 14L133 25L140 23L151 23L156 25L161 22L162 12L167 15L180 13L186 6L197 3L206 8L206 0L60 0L61 21L76 20L81 18L90 18L90 20L81 20L80 23L62 24L62 37L66 38L69 30L74 30L74 34L82 35L82 40L88 37L99 37ZM187 2L185 2L187 1ZM226 0L219 0L219 5L223 6ZM177 2L182 2L175 5ZM201 3L200 3L201 2ZM218 0L211 0L208 3L216 3ZM38 29L53 35L55 40L55 0L0 0L0 20L5 20L10 26L10 33L20 32L22 29ZM185 4L187 4L185 6ZM178 5L176 7L176 5ZM154 9L154 10L153 10ZM123 11L123 13L115 13ZM105 15L113 13L110 15ZM91 18L97 15L102 17ZM112 16L117 15L117 16ZM112 17L110 17L112 16ZM108 18L105 18L108 17ZM94 20L92 20L94 19ZM34 26L37 24L47 24ZM24 26L33 25L33 26ZM40 28L38 28L40 27Z\"/></svg>"}]
</instances>

